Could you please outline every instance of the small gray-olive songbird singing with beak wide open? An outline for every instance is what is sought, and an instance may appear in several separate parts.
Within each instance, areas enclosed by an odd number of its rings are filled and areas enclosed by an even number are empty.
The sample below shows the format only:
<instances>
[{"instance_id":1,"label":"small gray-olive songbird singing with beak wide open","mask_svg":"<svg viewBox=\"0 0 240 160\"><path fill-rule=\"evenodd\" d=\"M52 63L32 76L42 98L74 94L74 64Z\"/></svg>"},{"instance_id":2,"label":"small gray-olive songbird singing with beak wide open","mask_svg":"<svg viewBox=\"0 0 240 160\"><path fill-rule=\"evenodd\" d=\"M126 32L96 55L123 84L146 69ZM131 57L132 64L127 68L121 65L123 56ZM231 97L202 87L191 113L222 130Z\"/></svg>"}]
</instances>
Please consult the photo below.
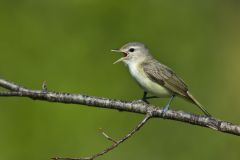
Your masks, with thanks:
<instances>
[{"instance_id":1,"label":"small gray-olive songbird singing with beak wide open","mask_svg":"<svg viewBox=\"0 0 240 160\"><path fill-rule=\"evenodd\" d=\"M169 109L175 96L180 96L198 106L206 116L211 116L208 111L193 97L187 85L176 73L164 64L153 58L148 48L140 42L130 42L113 52L123 53L123 57L114 62L123 62L128 66L132 77L144 90L142 100L148 103L148 99L170 97L162 114ZM147 96L150 93L152 96Z\"/></svg>"}]
</instances>

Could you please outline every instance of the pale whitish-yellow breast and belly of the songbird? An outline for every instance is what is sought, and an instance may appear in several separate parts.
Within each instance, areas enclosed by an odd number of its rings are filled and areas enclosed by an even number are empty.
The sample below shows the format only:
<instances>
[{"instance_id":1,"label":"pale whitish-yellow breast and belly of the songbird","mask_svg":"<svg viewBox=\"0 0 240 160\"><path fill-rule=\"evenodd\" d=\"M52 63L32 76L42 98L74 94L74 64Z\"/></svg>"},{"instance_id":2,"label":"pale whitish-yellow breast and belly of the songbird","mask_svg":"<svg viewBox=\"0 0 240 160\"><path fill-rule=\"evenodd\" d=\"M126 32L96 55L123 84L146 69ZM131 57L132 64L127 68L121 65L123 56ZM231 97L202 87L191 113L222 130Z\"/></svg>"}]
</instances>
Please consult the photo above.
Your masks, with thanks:
<instances>
[{"instance_id":1,"label":"pale whitish-yellow breast and belly of the songbird","mask_svg":"<svg viewBox=\"0 0 240 160\"><path fill-rule=\"evenodd\" d=\"M129 71L138 84L146 91L158 97L169 97L171 92L147 77L138 64L129 64Z\"/></svg>"}]
</instances>

